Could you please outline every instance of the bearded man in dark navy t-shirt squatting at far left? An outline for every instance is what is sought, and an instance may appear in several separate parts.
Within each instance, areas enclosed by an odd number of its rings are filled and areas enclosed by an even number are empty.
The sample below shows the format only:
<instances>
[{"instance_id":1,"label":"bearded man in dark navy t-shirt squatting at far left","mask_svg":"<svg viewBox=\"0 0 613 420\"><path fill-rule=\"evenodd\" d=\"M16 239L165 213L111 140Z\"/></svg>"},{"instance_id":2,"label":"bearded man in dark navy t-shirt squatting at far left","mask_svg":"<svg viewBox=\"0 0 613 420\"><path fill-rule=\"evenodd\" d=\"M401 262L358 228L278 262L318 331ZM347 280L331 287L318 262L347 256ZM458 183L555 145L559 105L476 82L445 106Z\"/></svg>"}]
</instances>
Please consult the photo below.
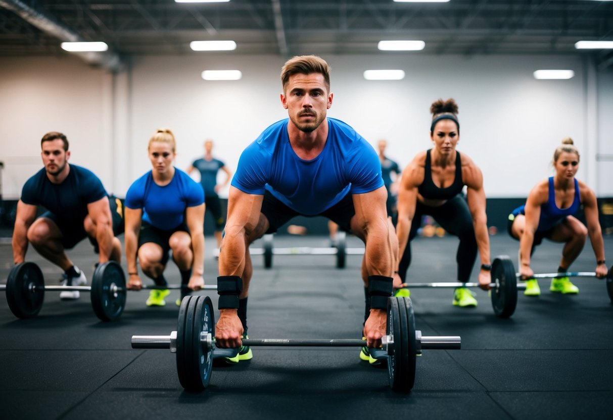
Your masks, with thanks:
<instances>
[{"instance_id":1,"label":"bearded man in dark navy t-shirt squatting at far left","mask_svg":"<svg viewBox=\"0 0 613 420\"><path fill-rule=\"evenodd\" d=\"M13 230L13 261L23 263L28 242L40 255L64 270L64 285L85 285L85 274L70 261L71 249L89 236L99 252L99 263L120 261L121 244L113 227L120 230L121 203L117 206L91 171L69 165L68 140L63 133L49 132L40 141L45 167L23 186L17 203ZM38 219L38 206L44 212ZM112 214L111 207L116 211ZM62 291L61 299L78 299L78 291Z\"/></svg>"}]
</instances>

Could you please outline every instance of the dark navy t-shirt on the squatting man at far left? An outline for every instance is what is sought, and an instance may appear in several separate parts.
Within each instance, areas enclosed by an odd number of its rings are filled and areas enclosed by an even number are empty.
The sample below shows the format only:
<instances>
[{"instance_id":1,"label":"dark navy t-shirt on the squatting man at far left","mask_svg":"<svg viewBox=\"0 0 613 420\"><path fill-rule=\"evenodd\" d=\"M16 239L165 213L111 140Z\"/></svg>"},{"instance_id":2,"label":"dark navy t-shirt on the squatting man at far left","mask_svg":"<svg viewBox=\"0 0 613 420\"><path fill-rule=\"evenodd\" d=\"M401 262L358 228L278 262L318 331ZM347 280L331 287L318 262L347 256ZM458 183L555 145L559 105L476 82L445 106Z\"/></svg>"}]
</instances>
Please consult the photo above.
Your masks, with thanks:
<instances>
[{"instance_id":1,"label":"dark navy t-shirt on the squatting man at far left","mask_svg":"<svg viewBox=\"0 0 613 420\"><path fill-rule=\"evenodd\" d=\"M102 182L94 173L77 165L69 165L69 172L61 184L53 184L42 168L21 190L21 201L32 206L44 206L64 222L82 222L87 216L87 204L107 196Z\"/></svg>"}]
</instances>

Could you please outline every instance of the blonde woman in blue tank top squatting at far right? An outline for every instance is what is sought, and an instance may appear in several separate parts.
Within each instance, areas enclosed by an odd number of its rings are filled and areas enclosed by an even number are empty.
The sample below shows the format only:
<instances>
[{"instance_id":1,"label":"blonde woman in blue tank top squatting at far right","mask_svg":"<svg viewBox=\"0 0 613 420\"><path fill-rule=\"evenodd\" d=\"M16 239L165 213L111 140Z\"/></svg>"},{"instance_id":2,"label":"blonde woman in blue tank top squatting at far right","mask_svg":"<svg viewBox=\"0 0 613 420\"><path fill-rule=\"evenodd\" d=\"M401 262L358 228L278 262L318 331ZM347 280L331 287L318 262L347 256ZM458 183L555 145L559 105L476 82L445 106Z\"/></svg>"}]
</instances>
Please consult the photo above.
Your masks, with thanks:
<instances>
[{"instance_id":1,"label":"blonde woman in blue tank top squatting at far right","mask_svg":"<svg viewBox=\"0 0 613 420\"><path fill-rule=\"evenodd\" d=\"M579 256L587 235L596 255L596 276L607 275L604 261L603 234L598 222L596 195L574 176L579 169L579 151L573 139L567 137L555 149L553 165L555 175L536 184L530 191L524 206L509 214L508 231L519 239L519 263L522 279L527 280L524 294L539 296L541 290L530 268L530 257L535 247L547 238L565 244L558 272L567 272ZM587 228L573 215L583 205ZM579 293L568 277L552 279L550 291L557 293Z\"/></svg>"}]
</instances>

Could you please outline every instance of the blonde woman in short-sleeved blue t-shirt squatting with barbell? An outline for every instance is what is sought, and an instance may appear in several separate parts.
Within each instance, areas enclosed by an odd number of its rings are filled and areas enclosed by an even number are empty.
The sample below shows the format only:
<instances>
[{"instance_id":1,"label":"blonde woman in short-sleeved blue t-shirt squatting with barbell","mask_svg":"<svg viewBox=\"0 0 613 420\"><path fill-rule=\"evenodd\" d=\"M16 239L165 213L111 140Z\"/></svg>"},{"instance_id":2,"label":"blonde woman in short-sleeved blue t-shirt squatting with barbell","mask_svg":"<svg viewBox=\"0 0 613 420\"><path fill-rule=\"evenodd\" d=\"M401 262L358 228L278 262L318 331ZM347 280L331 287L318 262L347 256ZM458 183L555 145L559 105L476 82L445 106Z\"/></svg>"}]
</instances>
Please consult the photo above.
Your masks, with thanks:
<instances>
[{"instance_id":1,"label":"blonde woman in short-sleeved blue t-shirt squatting with barbell","mask_svg":"<svg viewBox=\"0 0 613 420\"><path fill-rule=\"evenodd\" d=\"M158 129L149 140L153 170L134 181L126 194L126 260L128 288L142 287L142 271L156 285L167 285L164 268L172 259L181 273L181 285L199 290L204 285L204 193L188 174L172 165L175 137ZM151 290L147 306L164 306L169 290ZM181 299L187 290L181 290ZM181 304L177 299L177 306Z\"/></svg>"}]
</instances>

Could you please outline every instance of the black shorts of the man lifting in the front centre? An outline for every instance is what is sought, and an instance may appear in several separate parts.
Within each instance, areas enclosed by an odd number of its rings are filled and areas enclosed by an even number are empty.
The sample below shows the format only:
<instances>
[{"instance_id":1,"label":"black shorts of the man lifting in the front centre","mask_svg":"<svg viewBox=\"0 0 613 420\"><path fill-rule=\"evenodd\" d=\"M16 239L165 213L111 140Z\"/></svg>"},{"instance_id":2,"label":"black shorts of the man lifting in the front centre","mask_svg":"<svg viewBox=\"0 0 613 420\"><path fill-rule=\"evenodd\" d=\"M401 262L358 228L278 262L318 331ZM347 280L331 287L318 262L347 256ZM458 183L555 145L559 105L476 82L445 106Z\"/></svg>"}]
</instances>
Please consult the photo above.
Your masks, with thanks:
<instances>
[{"instance_id":1,"label":"black shorts of the man lifting in the front centre","mask_svg":"<svg viewBox=\"0 0 613 420\"><path fill-rule=\"evenodd\" d=\"M268 190L264 192L262 214L264 214L266 219L268 219L269 227L266 233L275 233L278 228L287 223L290 219L292 219L292 217L307 216L287 207ZM354 214L356 214L356 209L353 206L353 198L351 197L351 193L348 192L345 197L341 198L337 204L334 204L329 209L319 214L314 214L313 216L307 217L327 217L327 219L337 223L340 230L351 233L351 218L354 216Z\"/></svg>"}]
</instances>

